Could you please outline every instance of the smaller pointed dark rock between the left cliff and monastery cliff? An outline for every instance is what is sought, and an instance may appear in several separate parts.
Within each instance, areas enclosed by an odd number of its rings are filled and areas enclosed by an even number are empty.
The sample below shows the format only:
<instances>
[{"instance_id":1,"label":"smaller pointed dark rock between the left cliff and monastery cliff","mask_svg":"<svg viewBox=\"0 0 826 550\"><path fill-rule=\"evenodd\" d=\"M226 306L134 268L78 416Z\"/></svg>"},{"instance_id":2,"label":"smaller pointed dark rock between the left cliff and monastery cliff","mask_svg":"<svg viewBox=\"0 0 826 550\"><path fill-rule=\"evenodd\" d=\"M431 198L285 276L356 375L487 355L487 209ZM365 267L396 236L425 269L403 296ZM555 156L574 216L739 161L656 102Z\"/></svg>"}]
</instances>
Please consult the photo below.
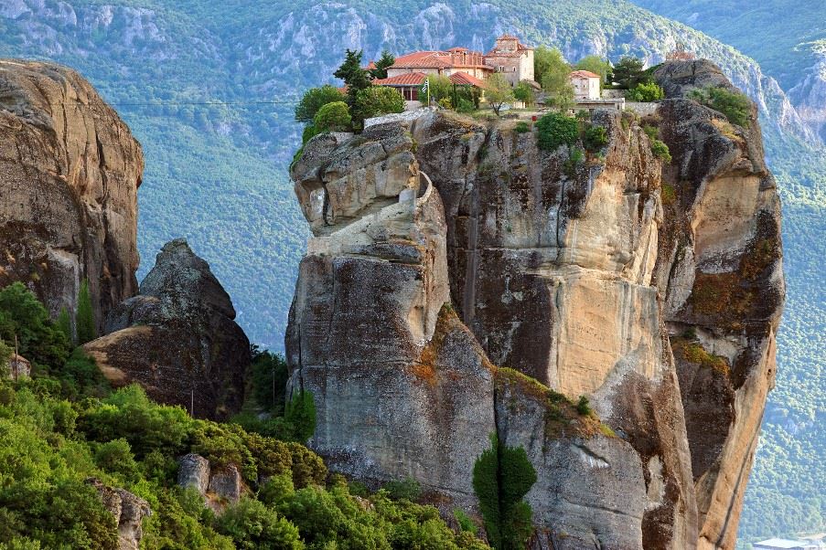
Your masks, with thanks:
<instances>
[{"instance_id":1,"label":"smaller pointed dark rock between the left cliff and monastery cliff","mask_svg":"<svg viewBox=\"0 0 826 550\"><path fill-rule=\"evenodd\" d=\"M137 296L84 346L114 386L137 382L157 401L227 418L243 401L250 342L209 265L177 239L164 245Z\"/></svg>"}]
</instances>

